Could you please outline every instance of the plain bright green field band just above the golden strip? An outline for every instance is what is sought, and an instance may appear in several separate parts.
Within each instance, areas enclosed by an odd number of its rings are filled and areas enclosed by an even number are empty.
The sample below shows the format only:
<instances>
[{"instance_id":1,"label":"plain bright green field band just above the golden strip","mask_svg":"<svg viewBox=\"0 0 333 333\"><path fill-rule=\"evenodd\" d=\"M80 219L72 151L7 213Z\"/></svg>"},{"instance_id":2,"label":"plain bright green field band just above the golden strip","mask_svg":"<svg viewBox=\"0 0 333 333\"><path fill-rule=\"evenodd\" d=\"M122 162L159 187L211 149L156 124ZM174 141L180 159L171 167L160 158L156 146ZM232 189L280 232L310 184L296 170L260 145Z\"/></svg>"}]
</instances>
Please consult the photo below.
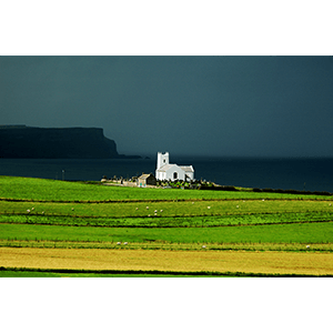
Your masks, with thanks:
<instances>
[{"instance_id":1,"label":"plain bright green field band just above the golden strip","mask_svg":"<svg viewBox=\"0 0 333 333\"><path fill-rule=\"evenodd\" d=\"M85 228L0 224L2 246L10 241L113 243L333 243L333 222L225 228ZM29 244L26 244L29 245Z\"/></svg>"}]
</instances>

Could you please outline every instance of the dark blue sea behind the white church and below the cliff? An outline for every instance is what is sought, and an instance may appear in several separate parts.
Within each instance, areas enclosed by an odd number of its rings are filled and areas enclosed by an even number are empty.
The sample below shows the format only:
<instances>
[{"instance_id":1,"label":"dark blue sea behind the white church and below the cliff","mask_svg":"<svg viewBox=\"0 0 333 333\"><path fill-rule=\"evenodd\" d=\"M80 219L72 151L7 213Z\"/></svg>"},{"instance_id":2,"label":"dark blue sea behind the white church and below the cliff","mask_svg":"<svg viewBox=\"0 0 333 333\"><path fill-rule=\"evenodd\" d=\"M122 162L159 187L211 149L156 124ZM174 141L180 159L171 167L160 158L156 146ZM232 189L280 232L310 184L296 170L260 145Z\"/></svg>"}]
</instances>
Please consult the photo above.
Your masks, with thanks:
<instances>
[{"instance_id":1,"label":"dark blue sea behind the white church and below the cliff","mask_svg":"<svg viewBox=\"0 0 333 333\"><path fill-rule=\"evenodd\" d=\"M220 185L333 193L331 158L172 157L170 163L193 165L198 180ZM100 181L154 174L155 158L144 159L0 159L0 175L67 181ZM1 182L0 182L1 186Z\"/></svg>"}]
</instances>

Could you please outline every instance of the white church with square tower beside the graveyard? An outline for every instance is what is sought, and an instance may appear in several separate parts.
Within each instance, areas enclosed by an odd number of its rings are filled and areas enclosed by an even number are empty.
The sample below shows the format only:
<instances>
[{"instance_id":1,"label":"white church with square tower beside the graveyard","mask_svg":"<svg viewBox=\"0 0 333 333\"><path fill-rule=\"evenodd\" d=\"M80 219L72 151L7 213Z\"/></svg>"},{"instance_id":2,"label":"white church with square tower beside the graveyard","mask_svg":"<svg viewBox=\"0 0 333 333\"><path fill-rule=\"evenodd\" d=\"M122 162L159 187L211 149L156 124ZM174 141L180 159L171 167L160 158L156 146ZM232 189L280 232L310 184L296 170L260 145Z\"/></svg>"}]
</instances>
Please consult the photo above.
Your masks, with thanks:
<instances>
[{"instance_id":1,"label":"white church with square tower beside the graveyard","mask_svg":"<svg viewBox=\"0 0 333 333\"><path fill-rule=\"evenodd\" d=\"M162 154L158 152L158 168L155 172L158 180L194 180L194 169L192 165L179 167L176 164L169 164L169 152Z\"/></svg>"}]
</instances>

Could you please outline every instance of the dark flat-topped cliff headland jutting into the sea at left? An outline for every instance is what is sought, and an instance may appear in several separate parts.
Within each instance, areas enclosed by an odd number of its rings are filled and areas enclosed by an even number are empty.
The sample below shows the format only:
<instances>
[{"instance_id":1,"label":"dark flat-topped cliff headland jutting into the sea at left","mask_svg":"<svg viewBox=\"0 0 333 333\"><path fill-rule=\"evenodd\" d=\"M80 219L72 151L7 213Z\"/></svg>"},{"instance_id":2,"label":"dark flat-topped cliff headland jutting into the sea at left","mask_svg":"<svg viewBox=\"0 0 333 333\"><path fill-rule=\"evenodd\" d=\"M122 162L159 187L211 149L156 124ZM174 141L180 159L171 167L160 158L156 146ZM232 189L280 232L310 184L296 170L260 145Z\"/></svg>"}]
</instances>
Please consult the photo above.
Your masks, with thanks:
<instances>
[{"instance_id":1,"label":"dark flat-topped cliff headland jutting into the sea at left","mask_svg":"<svg viewBox=\"0 0 333 333\"><path fill-rule=\"evenodd\" d=\"M114 159L115 142L102 129L0 127L0 157L7 159Z\"/></svg>"}]
</instances>

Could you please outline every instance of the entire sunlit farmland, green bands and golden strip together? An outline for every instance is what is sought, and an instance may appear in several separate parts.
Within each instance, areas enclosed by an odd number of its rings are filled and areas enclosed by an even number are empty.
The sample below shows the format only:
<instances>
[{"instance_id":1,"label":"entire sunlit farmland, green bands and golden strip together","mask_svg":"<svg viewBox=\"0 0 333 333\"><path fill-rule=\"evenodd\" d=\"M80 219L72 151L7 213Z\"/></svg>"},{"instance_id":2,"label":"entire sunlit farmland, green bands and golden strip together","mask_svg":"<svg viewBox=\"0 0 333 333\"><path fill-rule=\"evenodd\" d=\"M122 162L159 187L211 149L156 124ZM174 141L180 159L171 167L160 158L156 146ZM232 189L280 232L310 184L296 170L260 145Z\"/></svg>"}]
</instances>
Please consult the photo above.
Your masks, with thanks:
<instances>
[{"instance_id":1,"label":"entire sunlit farmland, green bands and golden strip together","mask_svg":"<svg viewBox=\"0 0 333 333\"><path fill-rule=\"evenodd\" d=\"M238 192L137 189L0 176L0 268L4 268L0 276L24 275L23 271L6 271L6 268L56 269L52 253L60 250L67 251L61 252L67 253L63 260L74 251L85 251L80 264L67 259L74 265L63 268L67 270L91 270L89 251L97 251L91 252L95 258L115 251L114 255L125 262L133 252L135 261L130 261L130 265L109 262L92 270L159 274L168 271L168 276L179 271L192 275L193 272L332 274L332 204L333 196L327 195L258 193L251 189ZM31 251L32 261L26 254L12 252L19 250ZM48 258L49 266L33 261L37 255L33 253L40 253L36 251L43 251L41 255ZM191 264L183 262L183 270L178 258L186 253ZM204 256L208 253L216 255L214 265L210 256ZM255 260L244 253L255 254ZM149 266L143 264L145 258L150 258ZM251 264L243 265L243 260ZM304 260L306 269L299 269L300 260ZM30 276L52 274L29 272Z\"/></svg>"}]
</instances>

